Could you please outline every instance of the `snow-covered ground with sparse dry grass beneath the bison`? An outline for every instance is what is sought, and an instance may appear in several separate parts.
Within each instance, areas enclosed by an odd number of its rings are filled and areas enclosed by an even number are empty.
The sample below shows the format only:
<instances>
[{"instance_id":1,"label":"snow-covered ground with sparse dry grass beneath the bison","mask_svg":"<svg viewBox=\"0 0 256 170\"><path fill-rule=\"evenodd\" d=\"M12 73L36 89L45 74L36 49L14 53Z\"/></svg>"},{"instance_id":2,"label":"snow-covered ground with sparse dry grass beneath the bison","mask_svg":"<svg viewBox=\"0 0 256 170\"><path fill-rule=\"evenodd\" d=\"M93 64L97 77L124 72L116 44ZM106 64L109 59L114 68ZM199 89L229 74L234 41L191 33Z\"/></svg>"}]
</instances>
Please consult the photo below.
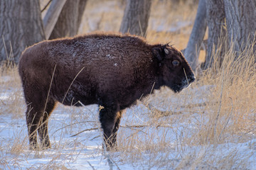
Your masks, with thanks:
<instances>
[{"instance_id":1,"label":"snow-covered ground with sparse dry grass beneath the bison","mask_svg":"<svg viewBox=\"0 0 256 170\"><path fill-rule=\"evenodd\" d=\"M11 81L11 77L1 77L2 83L6 81ZM147 100L150 106L166 114L172 112L159 118L154 118L142 102L127 109L118 133L121 149L109 153L102 149L102 133L95 105L81 108L59 105L55 108L49 122L52 149L37 152L28 149L24 113L15 113L15 108L11 110L14 113L1 112L0 169L256 169L254 135L245 142L183 144L183 140L193 135L198 130L198 124L203 124L207 116L191 113L181 106L204 103L206 99L199 92L211 88L213 86L190 87L180 95L174 95L168 89L161 93L156 91L155 97ZM184 99L182 93L198 95ZM5 105L14 100L14 95L15 101L18 98L23 101L19 87L1 88L2 111L6 111ZM24 105L19 107L18 111L25 111ZM133 152L129 147L137 151ZM228 160L233 162L225 162Z\"/></svg>"}]
</instances>

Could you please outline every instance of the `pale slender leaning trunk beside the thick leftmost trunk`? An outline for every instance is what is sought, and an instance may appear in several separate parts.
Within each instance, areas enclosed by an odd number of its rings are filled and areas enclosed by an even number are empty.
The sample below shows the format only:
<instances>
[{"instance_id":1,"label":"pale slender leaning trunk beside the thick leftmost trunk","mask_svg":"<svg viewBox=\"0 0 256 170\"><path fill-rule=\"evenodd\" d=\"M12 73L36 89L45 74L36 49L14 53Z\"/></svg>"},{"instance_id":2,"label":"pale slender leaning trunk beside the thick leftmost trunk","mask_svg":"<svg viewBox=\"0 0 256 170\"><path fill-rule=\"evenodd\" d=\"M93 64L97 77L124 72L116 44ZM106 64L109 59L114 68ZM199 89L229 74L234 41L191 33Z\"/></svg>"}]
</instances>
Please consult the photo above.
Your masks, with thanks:
<instances>
[{"instance_id":1,"label":"pale slender leaning trunk beside the thick leftmost trunk","mask_svg":"<svg viewBox=\"0 0 256 170\"><path fill-rule=\"evenodd\" d=\"M53 0L50 4L46 16L43 18L43 28L45 30L46 39L50 37L50 34L53 32L53 28L58 21L60 12L65 5L66 0Z\"/></svg>"}]
</instances>

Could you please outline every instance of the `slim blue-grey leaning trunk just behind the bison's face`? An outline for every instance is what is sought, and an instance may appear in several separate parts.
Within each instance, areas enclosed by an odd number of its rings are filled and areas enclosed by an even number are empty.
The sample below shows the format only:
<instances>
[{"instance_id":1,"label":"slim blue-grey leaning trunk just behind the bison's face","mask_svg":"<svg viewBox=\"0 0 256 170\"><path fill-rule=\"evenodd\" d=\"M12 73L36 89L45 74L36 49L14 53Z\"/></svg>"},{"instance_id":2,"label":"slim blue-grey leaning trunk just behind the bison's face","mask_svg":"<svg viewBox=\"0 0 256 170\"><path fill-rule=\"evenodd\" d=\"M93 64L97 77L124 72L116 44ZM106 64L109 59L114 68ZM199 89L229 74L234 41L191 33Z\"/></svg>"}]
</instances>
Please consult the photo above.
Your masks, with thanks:
<instances>
[{"instance_id":1,"label":"slim blue-grey leaning trunk just behind the bison's face","mask_svg":"<svg viewBox=\"0 0 256 170\"><path fill-rule=\"evenodd\" d=\"M206 0L200 0L196 20L188 40L188 45L185 50L185 57L191 68L195 71L198 67L198 52L203 42L203 37L206 33Z\"/></svg>"}]
</instances>

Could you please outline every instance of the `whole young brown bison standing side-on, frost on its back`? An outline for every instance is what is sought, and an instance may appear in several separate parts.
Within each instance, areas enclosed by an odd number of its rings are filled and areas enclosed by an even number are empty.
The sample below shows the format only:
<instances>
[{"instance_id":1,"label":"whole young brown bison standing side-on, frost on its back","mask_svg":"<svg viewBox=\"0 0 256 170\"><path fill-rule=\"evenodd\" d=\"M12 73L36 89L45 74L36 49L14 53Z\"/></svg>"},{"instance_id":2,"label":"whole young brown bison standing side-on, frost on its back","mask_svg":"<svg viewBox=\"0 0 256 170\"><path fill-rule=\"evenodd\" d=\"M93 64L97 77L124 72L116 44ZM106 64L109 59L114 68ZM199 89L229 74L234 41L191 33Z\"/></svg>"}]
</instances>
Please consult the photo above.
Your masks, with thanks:
<instances>
[{"instance_id":1,"label":"whole young brown bison standing side-on, frost on its back","mask_svg":"<svg viewBox=\"0 0 256 170\"><path fill-rule=\"evenodd\" d=\"M58 101L68 106L98 104L108 149L116 145L122 110L168 86L179 92L195 80L175 47L150 45L132 35L91 34L46 40L28 47L18 65L27 104L31 149L50 147L48 118Z\"/></svg>"}]
</instances>

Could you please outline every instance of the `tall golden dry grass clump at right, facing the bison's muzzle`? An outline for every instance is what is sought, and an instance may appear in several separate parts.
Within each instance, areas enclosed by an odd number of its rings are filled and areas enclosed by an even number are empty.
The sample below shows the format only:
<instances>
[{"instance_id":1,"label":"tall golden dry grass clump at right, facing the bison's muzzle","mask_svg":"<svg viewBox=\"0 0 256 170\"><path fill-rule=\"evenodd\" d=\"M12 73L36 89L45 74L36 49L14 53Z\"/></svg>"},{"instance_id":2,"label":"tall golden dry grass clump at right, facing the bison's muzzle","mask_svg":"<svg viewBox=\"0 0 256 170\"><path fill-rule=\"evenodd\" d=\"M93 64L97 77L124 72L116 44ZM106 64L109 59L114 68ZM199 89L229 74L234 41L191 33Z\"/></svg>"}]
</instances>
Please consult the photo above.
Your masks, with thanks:
<instances>
[{"instance_id":1,"label":"tall golden dry grass clump at right, facing the bison's muzzle","mask_svg":"<svg viewBox=\"0 0 256 170\"><path fill-rule=\"evenodd\" d=\"M206 132L206 139L211 139L210 142L235 140L227 134L240 136L236 138L238 141L245 140L249 134L255 135L256 132L256 64L253 48L248 45L245 51L237 55L231 45L221 66L218 67L217 62L214 65L217 67L208 69L200 80L203 84L215 85L209 95L209 101L215 104L206 106L208 113L211 113L210 126L202 129L202 132Z\"/></svg>"}]
</instances>

